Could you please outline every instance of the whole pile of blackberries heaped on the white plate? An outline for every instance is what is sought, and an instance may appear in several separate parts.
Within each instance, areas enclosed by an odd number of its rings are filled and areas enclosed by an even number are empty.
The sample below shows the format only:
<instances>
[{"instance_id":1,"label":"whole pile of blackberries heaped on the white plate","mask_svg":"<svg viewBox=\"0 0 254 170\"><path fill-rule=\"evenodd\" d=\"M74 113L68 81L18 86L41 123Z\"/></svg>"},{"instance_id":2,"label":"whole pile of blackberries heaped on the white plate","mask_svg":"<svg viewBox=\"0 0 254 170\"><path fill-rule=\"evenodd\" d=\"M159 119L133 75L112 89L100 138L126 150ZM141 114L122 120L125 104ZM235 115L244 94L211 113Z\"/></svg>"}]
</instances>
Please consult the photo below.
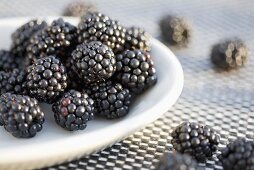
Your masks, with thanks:
<instances>
[{"instance_id":1,"label":"whole pile of blackberries heaped on the white plate","mask_svg":"<svg viewBox=\"0 0 254 170\"><path fill-rule=\"evenodd\" d=\"M70 131L96 116L124 117L156 84L150 48L143 29L98 12L77 26L62 18L27 22L0 51L0 125L15 137L35 136L44 122L39 102L52 104L56 123Z\"/></svg>"}]
</instances>

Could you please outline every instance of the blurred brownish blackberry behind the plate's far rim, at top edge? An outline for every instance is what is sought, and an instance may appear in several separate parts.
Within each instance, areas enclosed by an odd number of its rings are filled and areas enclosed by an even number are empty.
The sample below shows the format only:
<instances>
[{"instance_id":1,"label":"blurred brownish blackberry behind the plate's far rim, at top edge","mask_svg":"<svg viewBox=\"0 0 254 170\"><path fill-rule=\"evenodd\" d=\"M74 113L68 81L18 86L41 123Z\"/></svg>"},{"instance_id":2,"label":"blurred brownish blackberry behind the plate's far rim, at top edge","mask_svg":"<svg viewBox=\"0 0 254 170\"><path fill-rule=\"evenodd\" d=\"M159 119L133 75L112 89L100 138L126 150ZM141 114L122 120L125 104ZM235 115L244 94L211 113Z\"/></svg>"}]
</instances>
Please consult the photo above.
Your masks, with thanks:
<instances>
[{"instance_id":1,"label":"blurred brownish blackberry behind the plate's far rim, at top edge","mask_svg":"<svg viewBox=\"0 0 254 170\"><path fill-rule=\"evenodd\" d=\"M97 11L97 8L87 1L76 1L68 4L64 9L64 16L81 17L87 12Z\"/></svg>"}]
</instances>

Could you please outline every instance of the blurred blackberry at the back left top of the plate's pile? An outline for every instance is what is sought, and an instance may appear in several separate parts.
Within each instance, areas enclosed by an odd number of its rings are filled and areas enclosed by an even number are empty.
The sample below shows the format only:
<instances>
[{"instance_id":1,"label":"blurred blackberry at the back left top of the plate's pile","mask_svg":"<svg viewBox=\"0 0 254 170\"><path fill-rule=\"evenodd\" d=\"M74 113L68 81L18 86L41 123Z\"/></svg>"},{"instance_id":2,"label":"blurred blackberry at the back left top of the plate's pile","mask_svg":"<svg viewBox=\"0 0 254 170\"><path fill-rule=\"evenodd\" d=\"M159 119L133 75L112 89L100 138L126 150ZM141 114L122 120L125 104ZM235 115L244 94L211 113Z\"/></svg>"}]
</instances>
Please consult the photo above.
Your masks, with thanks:
<instances>
[{"instance_id":1,"label":"blurred blackberry at the back left top of the plate's pile","mask_svg":"<svg viewBox=\"0 0 254 170\"><path fill-rule=\"evenodd\" d=\"M26 56L26 47L29 44L29 39L37 32L45 29L47 23L37 19L30 20L21 27L19 27L11 35L12 44L11 51L17 57L24 58Z\"/></svg>"}]
</instances>

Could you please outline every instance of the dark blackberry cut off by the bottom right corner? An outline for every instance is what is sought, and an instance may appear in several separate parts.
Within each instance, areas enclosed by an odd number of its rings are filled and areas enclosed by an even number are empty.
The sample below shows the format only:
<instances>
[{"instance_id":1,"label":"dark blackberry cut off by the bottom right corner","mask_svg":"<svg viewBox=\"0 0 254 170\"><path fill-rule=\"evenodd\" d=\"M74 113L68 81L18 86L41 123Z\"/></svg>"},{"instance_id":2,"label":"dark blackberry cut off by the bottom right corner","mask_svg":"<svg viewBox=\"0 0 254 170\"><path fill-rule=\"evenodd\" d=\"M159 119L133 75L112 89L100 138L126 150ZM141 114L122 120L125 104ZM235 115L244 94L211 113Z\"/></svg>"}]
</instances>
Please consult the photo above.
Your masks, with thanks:
<instances>
[{"instance_id":1,"label":"dark blackberry cut off by the bottom right corner","mask_svg":"<svg viewBox=\"0 0 254 170\"><path fill-rule=\"evenodd\" d=\"M240 138L222 149L219 160L225 170L254 169L254 141Z\"/></svg>"}]
</instances>

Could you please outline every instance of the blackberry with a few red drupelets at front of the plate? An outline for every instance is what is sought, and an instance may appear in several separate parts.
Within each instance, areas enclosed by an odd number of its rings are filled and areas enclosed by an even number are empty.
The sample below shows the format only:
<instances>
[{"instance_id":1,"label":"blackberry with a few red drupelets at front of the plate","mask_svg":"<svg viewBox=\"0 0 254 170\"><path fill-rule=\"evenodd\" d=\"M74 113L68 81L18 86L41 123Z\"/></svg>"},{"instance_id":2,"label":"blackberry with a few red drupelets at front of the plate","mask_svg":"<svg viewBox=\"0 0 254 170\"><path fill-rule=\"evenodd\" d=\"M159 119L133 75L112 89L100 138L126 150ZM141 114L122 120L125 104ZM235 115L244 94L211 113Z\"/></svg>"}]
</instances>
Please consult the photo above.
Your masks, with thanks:
<instances>
[{"instance_id":1,"label":"blackberry with a few red drupelets at front of the plate","mask_svg":"<svg viewBox=\"0 0 254 170\"><path fill-rule=\"evenodd\" d=\"M86 93L69 90L52 106L55 121L69 131L83 130L94 117L94 101Z\"/></svg>"}]
</instances>

